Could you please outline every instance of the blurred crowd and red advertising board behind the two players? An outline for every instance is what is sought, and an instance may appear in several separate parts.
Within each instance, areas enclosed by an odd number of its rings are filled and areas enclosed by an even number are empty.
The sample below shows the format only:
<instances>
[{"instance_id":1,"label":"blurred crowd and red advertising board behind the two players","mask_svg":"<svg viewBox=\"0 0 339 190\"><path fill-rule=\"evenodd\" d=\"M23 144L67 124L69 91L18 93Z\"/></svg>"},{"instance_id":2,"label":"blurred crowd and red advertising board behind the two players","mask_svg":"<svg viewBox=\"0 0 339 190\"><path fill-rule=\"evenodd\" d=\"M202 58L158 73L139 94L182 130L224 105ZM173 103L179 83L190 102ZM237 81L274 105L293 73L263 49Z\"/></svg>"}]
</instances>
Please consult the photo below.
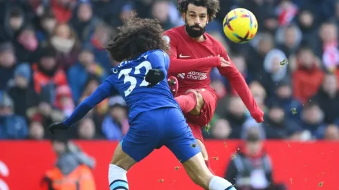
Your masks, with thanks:
<instances>
[{"instance_id":1,"label":"blurred crowd and red advertising board behind the two players","mask_svg":"<svg viewBox=\"0 0 339 190\"><path fill-rule=\"evenodd\" d=\"M258 19L249 44L223 35L223 17L236 7ZM0 1L0 187L39 188L56 160L46 127L109 75L102 46L132 10L157 18L165 30L183 24L176 1ZM289 189L339 189L338 21L336 0L221 0L206 30L224 44L266 117L255 124L228 82L211 74L219 104L205 137L218 175L225 175L246 131L257 129L268 139L275 181ZM289 64L280 67L285 58ZM106 189L107 164L128 127L125 102L115 96L58 137L77 140L96 160L97 188ZM156 151L131 169L131 188L196 189L183 169L176 171L179 165L166 149Z\"/></svg>"}]
</instances>

